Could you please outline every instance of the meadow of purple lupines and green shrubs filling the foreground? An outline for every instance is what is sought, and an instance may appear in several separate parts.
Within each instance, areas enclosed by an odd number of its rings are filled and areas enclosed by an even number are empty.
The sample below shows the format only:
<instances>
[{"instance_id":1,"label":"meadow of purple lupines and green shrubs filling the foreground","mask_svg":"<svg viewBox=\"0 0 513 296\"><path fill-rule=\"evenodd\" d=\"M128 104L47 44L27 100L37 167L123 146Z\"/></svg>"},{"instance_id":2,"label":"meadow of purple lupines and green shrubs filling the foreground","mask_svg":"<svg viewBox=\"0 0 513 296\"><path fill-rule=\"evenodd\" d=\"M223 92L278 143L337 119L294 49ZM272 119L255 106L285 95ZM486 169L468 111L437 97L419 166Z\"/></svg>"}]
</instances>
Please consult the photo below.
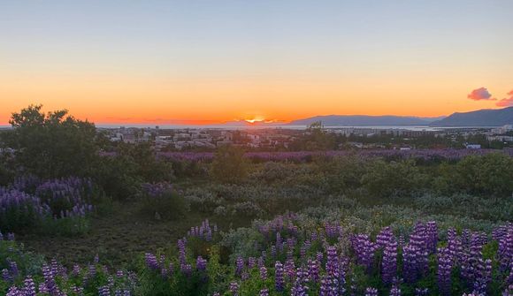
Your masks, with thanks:
<instances>
[{"instance_id":1,"label":"meadow of purple lupines and green shrubs filling the foreground","mask_svg":"<svg viewBox=\"0 0 513 296\"><path fill-rule=\"evenodd\" d=\"M509 150L163 156L28 115L2 137L2 294L513 293Z\"/></svg>"}]
</instances>

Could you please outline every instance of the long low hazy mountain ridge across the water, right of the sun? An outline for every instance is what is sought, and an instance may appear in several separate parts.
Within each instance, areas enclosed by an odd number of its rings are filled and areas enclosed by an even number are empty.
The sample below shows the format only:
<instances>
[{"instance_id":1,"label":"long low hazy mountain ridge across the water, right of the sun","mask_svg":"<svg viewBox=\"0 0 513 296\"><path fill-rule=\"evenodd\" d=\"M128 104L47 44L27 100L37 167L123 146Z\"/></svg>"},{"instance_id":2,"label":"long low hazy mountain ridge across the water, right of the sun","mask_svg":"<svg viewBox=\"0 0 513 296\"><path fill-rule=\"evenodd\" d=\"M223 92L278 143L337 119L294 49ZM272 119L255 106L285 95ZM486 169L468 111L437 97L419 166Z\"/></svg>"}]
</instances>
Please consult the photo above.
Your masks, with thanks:
<instances>
[{"instance_id":1,"label":"long low hazy mountain ridge across the water, right of the sun","mask_svg":"<svg viewBox=\"0 0 513 296\"><path fill-rule=\"evenodd\" d=\"M325 126L429 125L439 119L440 118L416 118L392 115L326 115L294 120L290 122L289 125L310 125L316 121L321 121Z\"/></svg>"}]
</instances>

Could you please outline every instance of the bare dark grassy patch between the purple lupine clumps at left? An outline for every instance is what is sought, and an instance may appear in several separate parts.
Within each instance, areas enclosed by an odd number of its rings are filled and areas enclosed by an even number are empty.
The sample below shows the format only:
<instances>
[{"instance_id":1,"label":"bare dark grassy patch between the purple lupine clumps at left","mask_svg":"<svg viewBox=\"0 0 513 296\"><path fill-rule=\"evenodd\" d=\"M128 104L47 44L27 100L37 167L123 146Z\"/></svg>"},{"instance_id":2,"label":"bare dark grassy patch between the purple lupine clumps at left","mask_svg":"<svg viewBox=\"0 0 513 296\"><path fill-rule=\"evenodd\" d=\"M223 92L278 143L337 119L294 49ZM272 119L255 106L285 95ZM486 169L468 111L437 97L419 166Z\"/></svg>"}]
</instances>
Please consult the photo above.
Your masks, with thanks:
<instances>
[{"instance_id":1,"label":"bare dark grassy patch between the purple lupine clumps at left","mask_svg":"<svg viewBox=\"0 0 513 296\"><path fill-rule=\"evenodd\" d=\"M19 235L27 249L56 258L59 262L92 262L98 254L111 267L134 261L142 252L175 245L191 226L201 224L205 218L189 212L175 221L157 221L140 214L137 201L116 203L111 213L91 221L91 230L78 237Z\"/></svg>"}]
</instances>

